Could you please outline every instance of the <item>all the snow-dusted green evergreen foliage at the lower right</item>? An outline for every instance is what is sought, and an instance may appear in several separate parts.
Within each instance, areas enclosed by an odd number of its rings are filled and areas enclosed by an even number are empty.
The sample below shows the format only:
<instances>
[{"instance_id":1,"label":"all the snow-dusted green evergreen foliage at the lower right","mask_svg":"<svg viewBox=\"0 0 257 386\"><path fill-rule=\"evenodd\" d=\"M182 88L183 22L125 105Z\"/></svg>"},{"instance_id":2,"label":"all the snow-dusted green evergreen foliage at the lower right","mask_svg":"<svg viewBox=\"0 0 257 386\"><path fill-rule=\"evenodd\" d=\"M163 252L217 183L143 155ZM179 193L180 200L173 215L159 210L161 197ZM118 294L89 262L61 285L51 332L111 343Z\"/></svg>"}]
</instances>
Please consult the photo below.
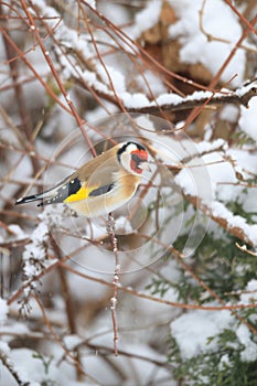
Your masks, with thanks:
<instances>
[{"instance_id":1,"label":"all the snow-dusted green evergreen foliage at the lower right","mask_svg":"<svg viewBox=\"0 0 257 386\"><path fill-rule=\"evenodd\" d=\"M240 302L240 294L250 280L256 279L257 258L245 254L236 247L235 237L226 234L211 224L200 246L191 258L191 269L227 304ZM218 234L218 237L217 237ZM181 250L188 234L180 236L174 245ZM247 247L250 249L250 247ZM172 256L165 256L165 261ZM181 303L208 304L215 301L213 297L194 280L181 266L178 280L156 276L148 289L152 294L164 297L170 289ZM250 302L250 300L249 300ZM191 311L185 311L191 312ZM207 311L206 311L207 312ZM219 312L219 311L216 311ZM246 308L236 311L246 323L257 329L256 308ZM238 339L236 330L240 321L235 319L231 328L222 330L217 335L206 340L206 350L200 350L192 357L183 357L180 342L171 335L169 337L168 361L174 366L173 375L179 385L183 386L254 386L257 379L257 361L245 361L242 353L247 349ZM255 334L250 340L257 343ZM215 343L210 346L211 343Z\"/></svg>"}]
</instances>

